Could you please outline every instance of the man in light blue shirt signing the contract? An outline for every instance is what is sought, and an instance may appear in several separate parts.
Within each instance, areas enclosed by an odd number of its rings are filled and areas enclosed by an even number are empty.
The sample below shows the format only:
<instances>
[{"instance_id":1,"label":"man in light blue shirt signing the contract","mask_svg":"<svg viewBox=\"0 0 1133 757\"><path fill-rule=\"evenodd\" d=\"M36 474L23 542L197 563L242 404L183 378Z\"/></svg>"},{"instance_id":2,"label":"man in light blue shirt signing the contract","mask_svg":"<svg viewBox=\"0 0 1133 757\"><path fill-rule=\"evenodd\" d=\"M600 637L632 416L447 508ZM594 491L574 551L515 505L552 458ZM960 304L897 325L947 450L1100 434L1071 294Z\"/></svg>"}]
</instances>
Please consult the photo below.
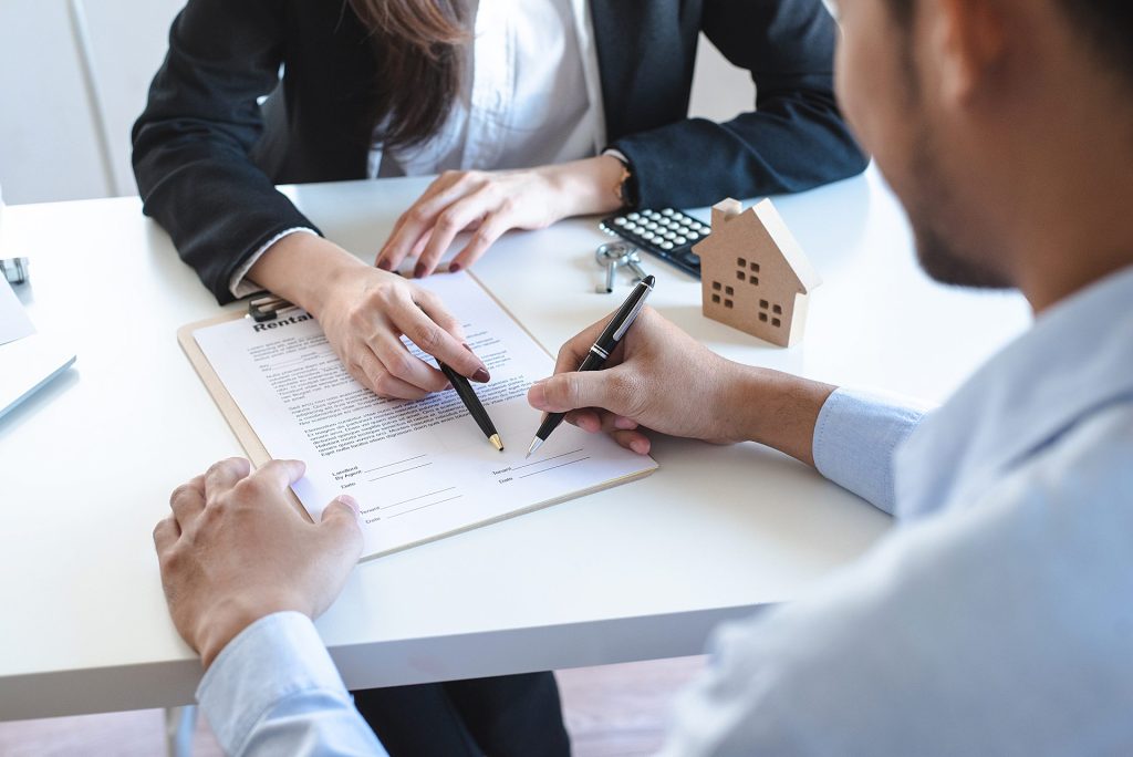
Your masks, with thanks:
<instances>
[{"instance_id":1,"label":"man in light blue shirt signing the contract","mask_svg":"<svg viewBox=\"0 0 1133 757\"><path fill-rule=\"evenodd\" d=\"M653 312L614 367L531 389L535 407L638 451L642 428L769 444L901 519L811 595L723 629L666 754L1130 752L1133 10L841 11L842 104L909 210L923 266L1019 287L1037 323L929 415L729 363ZM227 748L377 749L304 618L334 596L357 530L346 507L320 526L286 517L300 470L245 477L229 461L174 496L155 533L173 618L212 662L202 700ZM244 521L316 536L261 543ZM262 544L283 579L225 541Z\"/></svg>"}]
</instances>

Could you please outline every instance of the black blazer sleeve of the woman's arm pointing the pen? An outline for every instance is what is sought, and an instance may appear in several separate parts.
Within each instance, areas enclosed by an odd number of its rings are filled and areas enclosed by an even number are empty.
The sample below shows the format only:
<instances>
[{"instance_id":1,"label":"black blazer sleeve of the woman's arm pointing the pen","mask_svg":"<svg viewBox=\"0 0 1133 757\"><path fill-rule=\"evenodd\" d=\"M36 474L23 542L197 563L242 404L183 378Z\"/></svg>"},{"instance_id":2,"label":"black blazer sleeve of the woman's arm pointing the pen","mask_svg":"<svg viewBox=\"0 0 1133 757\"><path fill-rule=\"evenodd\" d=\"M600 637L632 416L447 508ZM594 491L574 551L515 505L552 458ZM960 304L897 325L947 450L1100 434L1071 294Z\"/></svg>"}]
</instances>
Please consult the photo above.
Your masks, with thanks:
<instances>
[{"instance_id":1,"label":"black blazer sleeve of the woman's arm pointing the pen","mask_svg":"<svg viewBox=\"0 0 1133 757\"><path fill-rule=\"evenodd\" d=\"M218 301L239 266L305 218L249 158L263 131L257 99L279 84L284 15L272 0L191 0L134 126L144 211Z\"/></svg>"}]
</instances>

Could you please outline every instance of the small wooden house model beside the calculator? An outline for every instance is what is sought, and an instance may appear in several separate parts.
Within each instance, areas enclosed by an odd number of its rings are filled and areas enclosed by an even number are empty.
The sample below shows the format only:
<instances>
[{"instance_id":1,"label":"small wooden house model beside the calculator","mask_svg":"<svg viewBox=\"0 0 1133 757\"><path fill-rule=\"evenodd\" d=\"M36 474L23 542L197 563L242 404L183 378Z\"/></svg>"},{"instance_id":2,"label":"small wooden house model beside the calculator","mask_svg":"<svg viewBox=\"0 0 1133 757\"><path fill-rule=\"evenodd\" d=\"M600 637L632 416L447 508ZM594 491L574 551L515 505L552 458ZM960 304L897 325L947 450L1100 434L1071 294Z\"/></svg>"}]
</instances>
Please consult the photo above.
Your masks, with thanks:
<instances>
[{"instance_id":1,"label":"small wooden house model beside the calculator","mask_svg":"<svg viewBox=\"0 0 1133 757\"><path fill-rule=\"evenodd\" d=\"M735 199L712 209L700 256L706 317L790 347L802 339L810 292L821 283L772 201L747 211Z\"/></svg>"}]
</instances>

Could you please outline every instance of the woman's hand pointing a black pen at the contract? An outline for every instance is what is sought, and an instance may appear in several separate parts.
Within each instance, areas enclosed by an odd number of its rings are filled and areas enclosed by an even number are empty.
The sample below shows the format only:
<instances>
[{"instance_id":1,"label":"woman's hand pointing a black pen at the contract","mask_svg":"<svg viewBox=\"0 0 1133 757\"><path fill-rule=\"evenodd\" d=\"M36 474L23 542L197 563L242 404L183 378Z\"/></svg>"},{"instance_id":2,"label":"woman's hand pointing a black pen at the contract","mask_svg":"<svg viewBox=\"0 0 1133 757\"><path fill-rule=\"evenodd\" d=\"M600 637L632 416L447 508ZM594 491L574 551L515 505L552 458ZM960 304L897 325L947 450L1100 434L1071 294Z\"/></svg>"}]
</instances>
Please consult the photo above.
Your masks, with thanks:
<instances>
[{"instance_id":1,"label":"woman's hand pointing a black pen at the contract","mask_svg":"<svg viewBox=\"0 0 1133 757\"><path fill-rule=\"evenodd\" d=\"M350 375L382 397L420 399L449 385L443 373L409 351L402 334L457 373L480 383L489 378L436 295L325 239L284 237L248 275L314 315Z\"/></svg>"}]
</instances>

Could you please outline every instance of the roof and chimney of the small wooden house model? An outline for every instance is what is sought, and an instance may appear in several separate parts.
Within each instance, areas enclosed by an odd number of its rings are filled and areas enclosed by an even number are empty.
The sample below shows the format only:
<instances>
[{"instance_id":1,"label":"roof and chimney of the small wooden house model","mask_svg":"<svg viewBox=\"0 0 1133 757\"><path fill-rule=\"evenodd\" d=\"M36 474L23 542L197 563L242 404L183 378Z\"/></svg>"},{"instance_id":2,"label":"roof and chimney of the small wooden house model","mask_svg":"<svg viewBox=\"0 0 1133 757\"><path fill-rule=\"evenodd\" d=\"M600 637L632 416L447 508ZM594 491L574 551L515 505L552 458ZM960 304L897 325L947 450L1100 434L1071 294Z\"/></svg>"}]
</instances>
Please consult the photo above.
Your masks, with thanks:
<instances>
[{"instance_id":1,"label":"roof and chimney of the small wooden house model","mask_svg":"<svg viewBox=\"0 0 1133 757\"><path fill-rule=\"evenodd\" d=\"M746 211L735 199L725 199L713 205L712 235L700 245L697 253L704 257L717 249L734 250L734 246L744 239L758 239L766 232L778 248L786 264L798 279L800 291L809 295L810 290L823 283L818 271L811 265L810 258L802 252L799 241L787 229L783 216L778 214L770 199L763 199Z\"/></svg>"}]
</instances>

